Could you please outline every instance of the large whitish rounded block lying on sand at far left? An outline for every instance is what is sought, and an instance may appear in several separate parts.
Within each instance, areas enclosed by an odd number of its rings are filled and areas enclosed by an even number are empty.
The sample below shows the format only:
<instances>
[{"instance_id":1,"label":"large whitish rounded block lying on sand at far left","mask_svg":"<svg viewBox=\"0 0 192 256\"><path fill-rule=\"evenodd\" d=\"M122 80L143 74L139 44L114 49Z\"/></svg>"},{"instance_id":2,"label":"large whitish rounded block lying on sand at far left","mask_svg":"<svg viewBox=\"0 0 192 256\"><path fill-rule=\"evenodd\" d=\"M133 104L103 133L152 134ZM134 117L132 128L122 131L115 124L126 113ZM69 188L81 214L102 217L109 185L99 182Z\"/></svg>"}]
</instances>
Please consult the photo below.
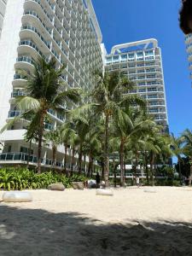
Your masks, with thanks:
<instances>
[{"instance_id":1,"label":"large whitish rounded block lying on sand at far left","mask_svg":"<svg viewBox=\"0 0 192 256\"><path fill-rule=\"evenodd\" d=\"M3 194L3 201L6 201L6 202L32 201L32 194L26 191L9 191Z\"/></svg>"}]
</instances>

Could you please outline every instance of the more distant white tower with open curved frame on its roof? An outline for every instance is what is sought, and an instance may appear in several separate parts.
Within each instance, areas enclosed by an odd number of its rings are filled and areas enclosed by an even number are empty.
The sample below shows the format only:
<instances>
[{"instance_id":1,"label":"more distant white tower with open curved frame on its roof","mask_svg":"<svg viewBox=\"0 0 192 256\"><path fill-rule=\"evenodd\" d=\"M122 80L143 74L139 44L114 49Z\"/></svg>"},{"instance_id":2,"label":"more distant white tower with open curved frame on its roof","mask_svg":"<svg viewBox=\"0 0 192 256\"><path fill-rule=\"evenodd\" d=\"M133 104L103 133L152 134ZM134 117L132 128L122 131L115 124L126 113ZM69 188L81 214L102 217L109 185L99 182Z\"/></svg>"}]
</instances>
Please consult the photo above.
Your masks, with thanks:
<instances>
[{"instance_id":1,"label":"more distant white tower with open curved frame on its roof","mask_svg":"<svg viewBox=\"0 0 192 256\"><path fill-rule=\"evenodd\" d=\"M105 69L119 70L136 84L130 93L138 94L148 102L148 113L168 128L166 91L160 47L156 39L113 46L106 55Z\"/></svg>"}]
</instances>

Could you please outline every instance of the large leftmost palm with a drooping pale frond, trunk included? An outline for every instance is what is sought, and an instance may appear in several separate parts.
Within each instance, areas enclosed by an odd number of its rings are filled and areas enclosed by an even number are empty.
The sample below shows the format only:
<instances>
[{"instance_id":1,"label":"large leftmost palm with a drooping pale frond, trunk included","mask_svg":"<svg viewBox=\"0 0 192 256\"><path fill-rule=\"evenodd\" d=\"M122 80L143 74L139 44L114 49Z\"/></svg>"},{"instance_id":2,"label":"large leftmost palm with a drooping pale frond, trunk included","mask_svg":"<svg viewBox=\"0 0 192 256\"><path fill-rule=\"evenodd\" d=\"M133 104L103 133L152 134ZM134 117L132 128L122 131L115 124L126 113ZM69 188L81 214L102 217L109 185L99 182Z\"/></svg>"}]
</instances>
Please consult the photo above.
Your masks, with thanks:
<instances>
[{"instance_id":1,"label":"large leftmost palm with a drooping pale frond, trunk included","mask_svg":"<svg viewBox=\"0 0 192 256\"><path fill-rule=\"evenodd\" d=\"M33 131L38 131L38 173L41 172L41 152L44 137L45 120L49 109L63 114L66 102L79 102L79 90L68 89L61 82L61 75L65 67L56 68L54 58L48 62L39 58L34 62L34 72L27 77L26 96L17 98L17 106L22 112L20 118L32 114L27 137Z\"/></svg>"}]
</instances>

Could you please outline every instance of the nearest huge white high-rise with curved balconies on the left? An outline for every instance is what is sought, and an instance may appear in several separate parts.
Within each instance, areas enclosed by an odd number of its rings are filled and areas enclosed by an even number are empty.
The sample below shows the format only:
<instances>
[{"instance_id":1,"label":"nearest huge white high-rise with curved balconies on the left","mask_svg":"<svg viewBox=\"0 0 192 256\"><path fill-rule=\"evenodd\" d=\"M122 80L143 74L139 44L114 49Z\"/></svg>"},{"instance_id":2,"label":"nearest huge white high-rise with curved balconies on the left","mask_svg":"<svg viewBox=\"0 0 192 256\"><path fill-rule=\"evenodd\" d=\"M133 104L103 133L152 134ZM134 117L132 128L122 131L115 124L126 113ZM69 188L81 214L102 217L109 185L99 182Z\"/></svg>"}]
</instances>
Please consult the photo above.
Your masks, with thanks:
<instances>
[{"instance_id":1,"label":"nearest huge white high-rise with curved balconies on the left","mask_svg":"<svg viewBox=\"0 0 192 256\"><path fill-rule=\"evenodd\" d=\"M4 0L0 0L0 3ZM103 69L102 32L91 0L8 0L3 13L0 39L0 129L20 114L15 96L23 95L26 80L20 70L32 73L39 56L54 56L58 67L66 64L63 81L69 87L88 88L93 70ZM52 129L64 117L49 110ZM17 121L0 136L3 153L0 164L23 163L29 144L24 140L26 120ZM30 163L36 165L37 144L32 143ZM68 150L68 154L70 154ZM63 162L63 148L58 148L57 166ZM51 145L44 145L43 166L51 164ZM69 162L69 161L68 161Z\"/></svg>"}]
</instances>

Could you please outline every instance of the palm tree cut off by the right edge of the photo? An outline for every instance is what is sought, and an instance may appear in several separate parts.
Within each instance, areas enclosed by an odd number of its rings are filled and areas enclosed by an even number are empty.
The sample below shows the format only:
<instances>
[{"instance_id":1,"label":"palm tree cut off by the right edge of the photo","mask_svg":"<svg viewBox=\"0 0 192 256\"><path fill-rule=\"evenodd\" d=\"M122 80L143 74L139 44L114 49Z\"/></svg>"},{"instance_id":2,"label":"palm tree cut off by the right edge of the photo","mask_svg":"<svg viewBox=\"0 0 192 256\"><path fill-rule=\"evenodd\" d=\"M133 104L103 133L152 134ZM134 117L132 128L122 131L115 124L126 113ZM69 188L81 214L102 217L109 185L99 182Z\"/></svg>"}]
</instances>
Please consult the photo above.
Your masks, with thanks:
<instances>
[{"instance_id":1,"label":"palm tree cut off by the right edge of the photo","mask_svg":"<svg viewBox=\"0 0 192 256\"><path fill-rule=\"evenodd\" d=\"M189 186L192 180L192 131L186 129L183 131L181 139L183 140L183 154L189 156L190 174L189 174Z\"/></svg>"}]
</instances>

